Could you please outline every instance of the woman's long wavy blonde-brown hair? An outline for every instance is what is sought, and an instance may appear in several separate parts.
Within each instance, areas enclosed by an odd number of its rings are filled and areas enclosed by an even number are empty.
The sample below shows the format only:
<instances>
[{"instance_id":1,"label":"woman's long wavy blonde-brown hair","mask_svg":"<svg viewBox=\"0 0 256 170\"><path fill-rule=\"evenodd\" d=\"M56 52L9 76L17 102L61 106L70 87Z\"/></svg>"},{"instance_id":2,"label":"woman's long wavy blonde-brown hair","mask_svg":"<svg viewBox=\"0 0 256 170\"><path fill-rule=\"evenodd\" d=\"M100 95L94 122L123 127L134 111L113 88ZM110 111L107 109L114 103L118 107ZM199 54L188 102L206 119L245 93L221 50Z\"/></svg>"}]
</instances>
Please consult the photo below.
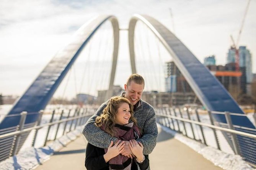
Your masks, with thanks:
<instances>
[{"instance_id":1,"label":"woman's long wavy blonde-brown hair","mask_svg":"<svg viewBox=\"0 0 256 170\"><path fill-rule=\"evenodd\" d=\"M109 99L108 105L103 110L100 116L96 117L95 125L97 127L105 126L105 131L109 133L111 136L115 136L117 133L115 130L116 122L116 114L118 112L118 108L122 103L129 104L130 107L130 120L132 120L135 125L137 125L137 120L134 117L133 106L127 98L121 96L114 96Z\"/></svg>"}]
</instances>

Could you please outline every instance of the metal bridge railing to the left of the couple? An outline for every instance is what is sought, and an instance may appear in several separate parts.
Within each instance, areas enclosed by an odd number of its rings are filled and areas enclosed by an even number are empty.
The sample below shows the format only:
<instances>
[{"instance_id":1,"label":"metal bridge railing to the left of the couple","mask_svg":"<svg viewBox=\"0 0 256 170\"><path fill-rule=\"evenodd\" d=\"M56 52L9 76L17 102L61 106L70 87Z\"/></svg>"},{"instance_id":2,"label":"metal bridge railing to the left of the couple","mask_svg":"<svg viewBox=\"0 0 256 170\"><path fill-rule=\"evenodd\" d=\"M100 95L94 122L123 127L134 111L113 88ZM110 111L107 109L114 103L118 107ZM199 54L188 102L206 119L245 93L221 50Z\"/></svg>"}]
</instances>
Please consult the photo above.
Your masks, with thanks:
<instances>
[{"instance_id":1,"label":"metal bridge railing to the left of the couple","mask_svg":"<svg viewBox=\"0 0 256 170\"><path fill-rule=\"evenodd\" d=\"M93 115L95 111L93 108L79 108L69 109L68 111L62 110L61 112L53 110L51 115L44 114L44 111L7 115L21 116L21 119L19 125L0 130L0 162L16 155L26 140L30 140L26 141L26 143L31 143L27 147L34 147L35 145L38 147L46 146L48 141L54 141L58 137L65 135L65 133L75 130L77 126L83 125L87 121L86 118ZM39 114L38 120L35 123L25 124L26 116L29 114ZM42 119L43 115L48 118ZM51 116L51 119L49 119L49 116ZM47 121L47 123L41 124L42 120ZM43 129L44 131L39 133ZM34 132L31 133L31 131ZM33 136L26 139L29 133ZM44 140L42 140L42 136L45 136Z\"/></svg>"}]
</instances>

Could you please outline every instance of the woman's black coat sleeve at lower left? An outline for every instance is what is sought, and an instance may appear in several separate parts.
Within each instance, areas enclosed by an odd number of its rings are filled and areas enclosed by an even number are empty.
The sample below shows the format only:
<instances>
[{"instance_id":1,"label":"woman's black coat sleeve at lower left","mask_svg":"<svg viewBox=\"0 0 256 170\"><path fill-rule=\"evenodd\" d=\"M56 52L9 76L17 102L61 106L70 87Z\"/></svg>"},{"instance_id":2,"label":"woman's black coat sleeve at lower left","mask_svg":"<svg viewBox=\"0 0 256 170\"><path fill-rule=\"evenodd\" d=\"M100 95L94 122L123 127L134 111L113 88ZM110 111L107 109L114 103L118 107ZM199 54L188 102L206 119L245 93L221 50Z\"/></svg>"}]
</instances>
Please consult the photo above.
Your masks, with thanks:
<instances>
[{"instance_id":1,"label":"woman's black coat sleeve at lower left","mask_svg":"<svg viewBox=\"0 0 256 170\"><path fill-rule=\"evenodd\" d=\"M90 143L87 144L85 155L85 167L87 170L99 170L109 166L104 160L104 151L100 151L100 149Z\"/></svg>"}]
</instances>

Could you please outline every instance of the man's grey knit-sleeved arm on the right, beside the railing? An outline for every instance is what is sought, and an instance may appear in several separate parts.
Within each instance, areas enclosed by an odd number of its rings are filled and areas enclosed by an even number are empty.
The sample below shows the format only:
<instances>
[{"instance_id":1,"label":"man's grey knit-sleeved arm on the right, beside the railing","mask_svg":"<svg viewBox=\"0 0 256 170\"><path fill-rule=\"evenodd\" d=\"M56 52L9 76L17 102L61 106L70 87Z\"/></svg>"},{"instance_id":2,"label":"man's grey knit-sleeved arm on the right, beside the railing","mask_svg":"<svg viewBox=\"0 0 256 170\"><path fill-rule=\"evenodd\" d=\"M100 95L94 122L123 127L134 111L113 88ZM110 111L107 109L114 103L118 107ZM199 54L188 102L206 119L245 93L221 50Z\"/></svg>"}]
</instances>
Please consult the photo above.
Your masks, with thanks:
<instances>
[{"instance_id":1,"label":"man's grey knit-sleeved arm on the right, beside the railing","mask_svg":"<svg viewBox=\"0 0 256 170\"><path fill-rule=\"evenodd\" d=\"M157 129L157 121L155 117L155 111L153 107L148 109L148 117L144 123L143 127L143 136L142 138L138 139L137 141L143 144L143 154L148 155L150 154L157 144L157 136L158 136L158 129Z\"/></svg>"}]
</instances>

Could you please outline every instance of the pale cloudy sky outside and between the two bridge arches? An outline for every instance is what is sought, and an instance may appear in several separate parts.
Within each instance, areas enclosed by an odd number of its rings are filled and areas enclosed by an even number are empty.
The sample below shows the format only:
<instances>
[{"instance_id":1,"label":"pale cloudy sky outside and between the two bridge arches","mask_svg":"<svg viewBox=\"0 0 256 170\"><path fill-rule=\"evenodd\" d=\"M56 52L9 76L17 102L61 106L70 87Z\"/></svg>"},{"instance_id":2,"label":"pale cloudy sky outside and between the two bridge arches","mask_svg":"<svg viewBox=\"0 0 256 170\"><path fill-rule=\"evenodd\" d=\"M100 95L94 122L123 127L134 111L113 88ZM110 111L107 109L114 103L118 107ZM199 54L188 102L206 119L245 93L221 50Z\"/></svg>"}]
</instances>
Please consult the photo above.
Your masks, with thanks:
<instances>
[{"instance_id":1,"label":"pale cloudy sky outside and between the two bridge arches","mask_svg":"<svg viewBox=\"0 0 256 170\"><path fill-rule=\"evenodd\" d=\"M147 14L159 20L201 61L215 55L225 64L230 35L236 40L247 5L241 0L1 0L0 93L22 95L79 27L99 14L113 14L121 28L130 17ZM170 8L172 16L170 14ZM256 73L256 0L251 0L239 45L252 54ZM121 33L114 84L129 74L127 35ZM147 82L147 81L146 81ZM149 83L150 84L150 83Z\"/></svg>"}]
</instances>

